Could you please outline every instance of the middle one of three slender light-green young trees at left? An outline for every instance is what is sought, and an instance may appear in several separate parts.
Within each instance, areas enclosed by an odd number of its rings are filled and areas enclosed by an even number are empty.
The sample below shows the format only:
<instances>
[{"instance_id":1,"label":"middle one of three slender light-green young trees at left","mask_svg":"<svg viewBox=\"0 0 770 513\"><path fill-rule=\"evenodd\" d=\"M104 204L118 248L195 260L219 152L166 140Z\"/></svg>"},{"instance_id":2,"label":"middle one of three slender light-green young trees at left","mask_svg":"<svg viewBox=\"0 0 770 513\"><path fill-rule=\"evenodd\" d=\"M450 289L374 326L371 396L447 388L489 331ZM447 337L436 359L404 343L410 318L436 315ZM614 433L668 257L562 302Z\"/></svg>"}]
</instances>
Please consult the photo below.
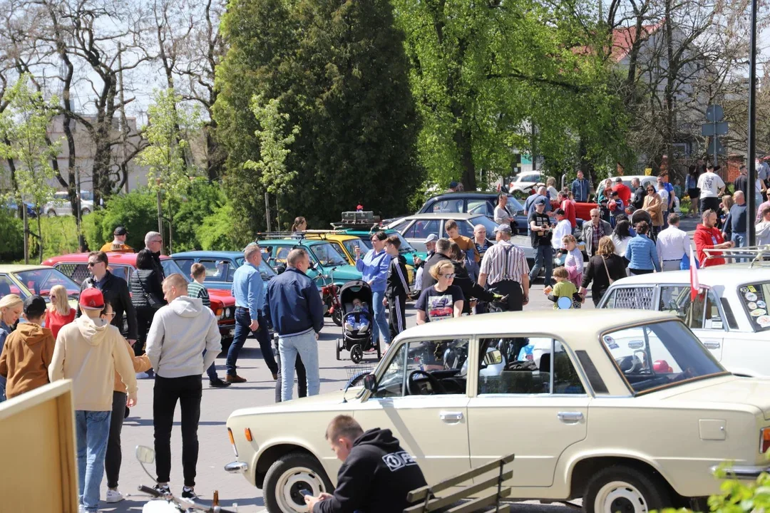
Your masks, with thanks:
<instances>
[{"instance_id":1,"label":"middle one of three slender light-green young trees at left","mask_svg":"<svg viewBox=\"0 0 770 513\"><path fill-rule=\"evenodd\" d=\"M140 165L149 167L147 179L150 190L160 199L166 199L166 218L172 233L174 207L189 190L190 177L197 170L189 165L188 134L199 126L196 112L186 111L179 105L182 98L172 88L156 91L154 103L148 109L149 125L145 129L148 145L138 155ZM160 206L159 206L160 208ZM161 212L158 212L159 232L162 229ZM168 238L169 252L173 251L172 235Z\"/></svg>"}]
</instances>

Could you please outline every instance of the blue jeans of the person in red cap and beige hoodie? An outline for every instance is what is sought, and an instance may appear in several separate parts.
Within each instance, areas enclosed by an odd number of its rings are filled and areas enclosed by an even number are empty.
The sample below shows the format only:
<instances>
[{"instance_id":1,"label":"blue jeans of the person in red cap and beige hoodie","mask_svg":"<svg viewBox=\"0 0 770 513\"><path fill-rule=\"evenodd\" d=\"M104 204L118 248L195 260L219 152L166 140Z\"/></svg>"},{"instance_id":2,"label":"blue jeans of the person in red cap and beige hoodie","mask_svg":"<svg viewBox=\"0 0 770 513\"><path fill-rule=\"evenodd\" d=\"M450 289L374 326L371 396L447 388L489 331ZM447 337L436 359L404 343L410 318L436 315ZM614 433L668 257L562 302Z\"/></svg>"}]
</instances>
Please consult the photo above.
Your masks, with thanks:
<instances>
[{"instance_id":1,"label":"blue jeans of the person in red cap and beige hoodie","mask_svg":"<svg viewBox=\"0 0 770 513\"><path fill-rule=\"evenodd\" d=\"M78 443L78 498L85 511L98 511L99 487L104 477L104 458L112 411L75 411Z\"/></svg>"}]
</instances>

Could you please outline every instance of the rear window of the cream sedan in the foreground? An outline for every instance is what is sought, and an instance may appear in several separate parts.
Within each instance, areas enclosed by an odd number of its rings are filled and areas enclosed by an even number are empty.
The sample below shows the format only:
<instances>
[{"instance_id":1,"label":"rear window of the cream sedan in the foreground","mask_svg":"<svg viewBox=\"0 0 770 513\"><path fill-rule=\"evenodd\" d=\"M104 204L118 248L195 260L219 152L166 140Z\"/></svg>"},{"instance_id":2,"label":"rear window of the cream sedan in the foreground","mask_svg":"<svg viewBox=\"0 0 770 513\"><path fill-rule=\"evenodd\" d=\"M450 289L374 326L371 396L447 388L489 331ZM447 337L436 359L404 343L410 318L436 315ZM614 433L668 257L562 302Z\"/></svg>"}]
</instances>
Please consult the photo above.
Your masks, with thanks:
<instances>
[{"instance_id":1,"label":"rear window of the cream sedan in the foreground","mask_svg":"<svg viewBox=\"0 0 770 513\"><path fill-rule=\"evenodd\" d=\"M601 341L634 395L727 373L679 321L611 331Z\"/></svg>"}]
</instances>

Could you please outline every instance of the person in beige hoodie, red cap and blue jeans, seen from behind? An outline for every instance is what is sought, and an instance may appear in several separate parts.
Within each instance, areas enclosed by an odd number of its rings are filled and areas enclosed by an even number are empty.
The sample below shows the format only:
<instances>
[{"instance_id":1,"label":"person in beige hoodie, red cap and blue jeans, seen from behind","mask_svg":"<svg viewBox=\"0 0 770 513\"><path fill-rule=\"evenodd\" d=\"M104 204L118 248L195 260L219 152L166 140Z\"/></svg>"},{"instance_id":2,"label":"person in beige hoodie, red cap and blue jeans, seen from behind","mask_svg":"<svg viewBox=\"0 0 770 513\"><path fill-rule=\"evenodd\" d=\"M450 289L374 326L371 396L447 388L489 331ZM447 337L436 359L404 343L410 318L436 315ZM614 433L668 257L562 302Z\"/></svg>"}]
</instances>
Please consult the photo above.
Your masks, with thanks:
<instances>
[{"instance_id":1,"label":"person in beige hoodie, red cap and blue jeans, seen from behind","mask_svg":"<svg viewBox=\"0 0 770 513\"><path fill-rule=\"evenodd\" d=\"M79 501L83 511L95 513L104 475L115 371L126 385L129 407L136 405L137 388L125 339L110 325L102 291L86 288L80 293L79 304L85 315L59 331L49 378L72 379Z\"/></svg>"}]
</instances>

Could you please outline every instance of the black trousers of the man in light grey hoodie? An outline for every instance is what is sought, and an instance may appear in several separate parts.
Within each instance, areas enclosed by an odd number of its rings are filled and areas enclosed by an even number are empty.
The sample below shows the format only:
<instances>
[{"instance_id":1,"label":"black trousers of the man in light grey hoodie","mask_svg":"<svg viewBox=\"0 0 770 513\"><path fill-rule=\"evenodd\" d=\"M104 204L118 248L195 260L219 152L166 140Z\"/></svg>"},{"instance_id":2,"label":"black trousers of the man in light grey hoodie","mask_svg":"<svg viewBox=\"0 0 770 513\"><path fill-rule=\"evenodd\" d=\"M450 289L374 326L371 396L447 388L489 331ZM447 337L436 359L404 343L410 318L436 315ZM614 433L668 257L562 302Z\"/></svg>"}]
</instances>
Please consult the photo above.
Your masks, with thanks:
<instances>
[{"instance_id":1,"label":"black trousers of the man in light grey hoodie","mask_svg":"<svg viewBox=\"0 0 770 513\"><path fill-rule=\"evenodd\" d=\"M199 375L182 378L156 376L152 400L152 426L155 428L155 468L158 482L169 482L171 475L171 428L176 401L182 408L182 471L185 486L195 486L198 464L198 421L203 382Z\"/></svg>"}]
</instances>

